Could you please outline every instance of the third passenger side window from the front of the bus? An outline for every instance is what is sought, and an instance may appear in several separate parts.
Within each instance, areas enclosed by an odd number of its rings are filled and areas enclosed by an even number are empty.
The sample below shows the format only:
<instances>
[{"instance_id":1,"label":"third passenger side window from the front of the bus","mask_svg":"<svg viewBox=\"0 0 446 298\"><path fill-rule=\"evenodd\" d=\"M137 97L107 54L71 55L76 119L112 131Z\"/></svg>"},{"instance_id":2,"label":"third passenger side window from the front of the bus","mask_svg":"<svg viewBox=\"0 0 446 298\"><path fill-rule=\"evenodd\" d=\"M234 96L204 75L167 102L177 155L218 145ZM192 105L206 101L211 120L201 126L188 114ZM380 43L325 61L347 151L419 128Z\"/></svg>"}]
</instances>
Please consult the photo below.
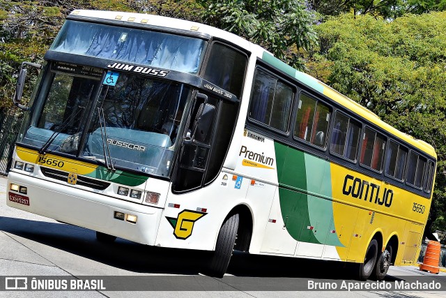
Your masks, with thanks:
<instances>
[{"instance_id":1,"label":"third passenger side window from the front of the bus","mask_svg":"<svg viewBox=\"0 0 446 298\"><path fill-rule=\"evenodd\" d=\"M334 118L330 151L355 161L360 131L360 124L337 112Z\"/></svg>"}]
</instances>

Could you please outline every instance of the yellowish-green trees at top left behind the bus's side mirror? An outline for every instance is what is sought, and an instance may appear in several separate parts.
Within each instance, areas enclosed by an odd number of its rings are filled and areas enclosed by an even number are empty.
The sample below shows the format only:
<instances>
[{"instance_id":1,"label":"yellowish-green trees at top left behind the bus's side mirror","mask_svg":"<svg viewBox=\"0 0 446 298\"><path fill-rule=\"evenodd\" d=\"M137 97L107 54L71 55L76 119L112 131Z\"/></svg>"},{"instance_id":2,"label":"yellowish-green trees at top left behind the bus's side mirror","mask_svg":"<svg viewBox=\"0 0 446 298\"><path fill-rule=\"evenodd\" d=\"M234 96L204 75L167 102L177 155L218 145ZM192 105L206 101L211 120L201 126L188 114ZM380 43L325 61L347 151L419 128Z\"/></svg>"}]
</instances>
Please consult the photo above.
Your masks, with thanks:
<instances>
[{"instance_id":1,"label":"yellowish-green trees at top left behind the bus's side mirror","mask_svg":"<svg viewBox=\"0 0 446 298\"><path fill-rule=\"evenodd\" d=\"M0 0L0 107L11 105L22 61L41 63L66 16L76 8L132 10L121 1ZM36 73L25 85L29 98Z\"/></svg>"}]
</instances>

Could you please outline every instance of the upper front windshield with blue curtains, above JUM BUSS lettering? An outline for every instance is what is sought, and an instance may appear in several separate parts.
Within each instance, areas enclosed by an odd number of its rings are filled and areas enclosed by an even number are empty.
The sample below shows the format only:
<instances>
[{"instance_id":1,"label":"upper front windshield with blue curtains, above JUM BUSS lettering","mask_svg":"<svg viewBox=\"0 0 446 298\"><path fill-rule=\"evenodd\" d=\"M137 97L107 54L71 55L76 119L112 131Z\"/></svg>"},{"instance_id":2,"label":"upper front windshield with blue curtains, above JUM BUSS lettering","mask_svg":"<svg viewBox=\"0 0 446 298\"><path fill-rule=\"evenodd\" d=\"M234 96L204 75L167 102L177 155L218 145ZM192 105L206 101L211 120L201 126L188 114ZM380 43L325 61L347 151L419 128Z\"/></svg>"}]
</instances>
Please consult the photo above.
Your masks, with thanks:
<instances>
[{"instance_id":1,"label":"upper front windshield with blue curtains, above JUM BUSS lettering","mask_svg":"<svg viewBox=\"0 0 446 298\"><path fill-rule=\"evenodd\" d=\"M197 74L205 40L67 20L50 50Z\"/></svg>"}]
</instances>

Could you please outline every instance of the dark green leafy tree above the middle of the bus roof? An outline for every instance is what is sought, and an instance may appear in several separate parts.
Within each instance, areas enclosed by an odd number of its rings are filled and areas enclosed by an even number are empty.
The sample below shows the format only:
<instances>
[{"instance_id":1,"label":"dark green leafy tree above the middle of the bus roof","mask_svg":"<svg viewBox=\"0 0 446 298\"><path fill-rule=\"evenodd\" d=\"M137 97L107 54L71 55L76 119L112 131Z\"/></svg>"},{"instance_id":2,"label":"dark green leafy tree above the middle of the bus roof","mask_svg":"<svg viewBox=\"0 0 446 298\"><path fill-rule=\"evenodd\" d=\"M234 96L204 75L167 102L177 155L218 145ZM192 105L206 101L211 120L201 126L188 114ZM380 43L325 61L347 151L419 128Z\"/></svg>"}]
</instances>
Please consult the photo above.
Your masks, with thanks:
<instances>
[{"instance_id":1,"label":"dark green leafy tree above the middle of the bus roof","mask_svg":"<svg viewBox=\"0 0 446 298\"><path fill-rule=\"evenodd\" d=\"M312 27L316 15L302 0L201 1L208 7L203 20L257 43L296 68L302 68L298 50L316 43Z\"/></svg>"}]
</instances>

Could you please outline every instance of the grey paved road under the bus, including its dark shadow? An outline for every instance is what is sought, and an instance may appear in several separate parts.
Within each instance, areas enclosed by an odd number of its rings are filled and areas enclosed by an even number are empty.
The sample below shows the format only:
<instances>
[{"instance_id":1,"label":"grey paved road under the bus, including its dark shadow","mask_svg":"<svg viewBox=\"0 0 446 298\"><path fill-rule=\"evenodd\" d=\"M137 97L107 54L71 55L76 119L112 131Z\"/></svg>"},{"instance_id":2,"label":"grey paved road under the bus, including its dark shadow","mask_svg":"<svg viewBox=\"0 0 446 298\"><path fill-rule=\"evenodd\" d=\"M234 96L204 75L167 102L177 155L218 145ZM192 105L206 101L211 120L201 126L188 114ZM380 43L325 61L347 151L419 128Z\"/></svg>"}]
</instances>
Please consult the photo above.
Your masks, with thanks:
<instances>
[{"instance_id":1,"label":"grey paved road under the bus, including its dark shadow","mask_svg":"<svg viewBox=\"0 0 446 298\"><path fill-rule=\"evenodd\" d=\"M10 208L6 206L6 181L0 176L0 278L120 276L127 278L124 288L134 285L156 291L120 291L116 281L114 290L0 291L0 297L446 297L446 292L430 290L318 292L294 291L295 286L283 290L290 285L307 285L308 280L336 282L338 286L341 281L355 281L337 262L243 253L233 255L224 278L210 278L201 274L208 253L149 247L123 239L102 244L92 230ZM391 283L401 276L429 275L417 267L391 267L386 280ZM284 288L277 291L282 285Z\"/></svg>"}]
</instances>

